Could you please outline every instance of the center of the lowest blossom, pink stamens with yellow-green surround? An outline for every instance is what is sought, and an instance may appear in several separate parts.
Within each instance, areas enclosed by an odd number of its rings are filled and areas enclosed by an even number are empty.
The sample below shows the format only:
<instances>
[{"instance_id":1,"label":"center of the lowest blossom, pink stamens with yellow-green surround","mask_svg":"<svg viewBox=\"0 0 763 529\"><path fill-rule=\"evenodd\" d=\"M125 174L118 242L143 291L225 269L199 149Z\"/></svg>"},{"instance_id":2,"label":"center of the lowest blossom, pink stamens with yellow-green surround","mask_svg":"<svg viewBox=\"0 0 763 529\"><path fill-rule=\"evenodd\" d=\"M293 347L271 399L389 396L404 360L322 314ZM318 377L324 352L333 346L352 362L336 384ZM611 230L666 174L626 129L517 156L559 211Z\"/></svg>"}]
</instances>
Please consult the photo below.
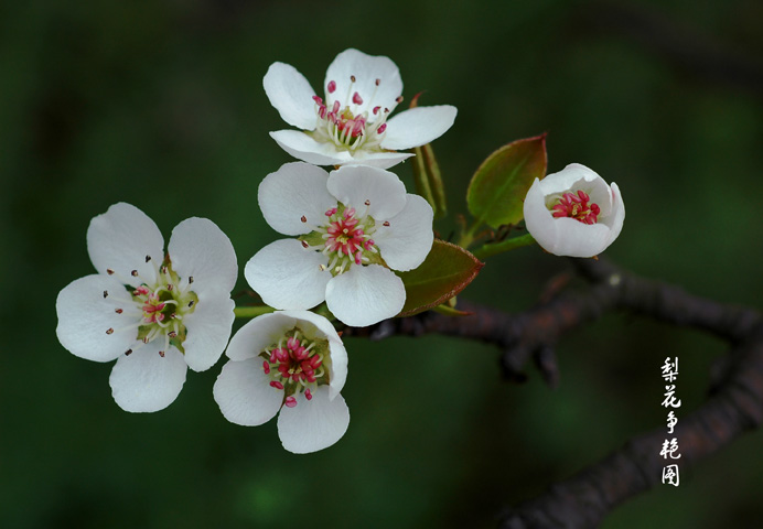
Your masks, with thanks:
<instances>
[{"instance_id":1,"label":"center of the lowest blossom, pink stamens with yellow-green surround","mask_svg":"<svg viewBox=\"0 0 763 529\"><path fill-rule=\"evenodd\" d=\"M278 344L260 353L262 370L270 378L270 387L283 391L283 404L297 406L294 395L304 393L312 400L319 386L330 382L331 355L325 339L300 338L301 331L294 327L284 333Z\"/></svg>"}]
</instances>

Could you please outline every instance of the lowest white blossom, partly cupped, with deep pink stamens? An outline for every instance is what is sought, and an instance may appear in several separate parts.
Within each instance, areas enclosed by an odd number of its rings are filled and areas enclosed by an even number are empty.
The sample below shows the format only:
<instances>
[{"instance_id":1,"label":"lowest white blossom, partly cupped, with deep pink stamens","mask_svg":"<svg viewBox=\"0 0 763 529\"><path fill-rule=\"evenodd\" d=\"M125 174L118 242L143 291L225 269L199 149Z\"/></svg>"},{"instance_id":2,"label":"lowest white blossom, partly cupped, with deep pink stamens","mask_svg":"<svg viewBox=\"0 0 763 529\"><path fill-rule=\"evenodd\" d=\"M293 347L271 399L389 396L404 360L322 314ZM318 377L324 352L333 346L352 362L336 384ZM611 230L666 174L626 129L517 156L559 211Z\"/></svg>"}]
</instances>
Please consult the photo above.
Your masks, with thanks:
<instances>
[{"instance_id":1,"label":"lowest white blossom, partly cupped, with deep pink stamens","mask_svg":"<svg viewBox=\"0 0 763 529\"><path fill-rule=\"evenodd\" d=\"M283 447L315 452L338 441L350 424L340 395L347 352L329 320L307 311L258 316L230 339L230 358L217 377L215 401L225 418L244 427L278 415Z\"/></svg>"}]
</instances>

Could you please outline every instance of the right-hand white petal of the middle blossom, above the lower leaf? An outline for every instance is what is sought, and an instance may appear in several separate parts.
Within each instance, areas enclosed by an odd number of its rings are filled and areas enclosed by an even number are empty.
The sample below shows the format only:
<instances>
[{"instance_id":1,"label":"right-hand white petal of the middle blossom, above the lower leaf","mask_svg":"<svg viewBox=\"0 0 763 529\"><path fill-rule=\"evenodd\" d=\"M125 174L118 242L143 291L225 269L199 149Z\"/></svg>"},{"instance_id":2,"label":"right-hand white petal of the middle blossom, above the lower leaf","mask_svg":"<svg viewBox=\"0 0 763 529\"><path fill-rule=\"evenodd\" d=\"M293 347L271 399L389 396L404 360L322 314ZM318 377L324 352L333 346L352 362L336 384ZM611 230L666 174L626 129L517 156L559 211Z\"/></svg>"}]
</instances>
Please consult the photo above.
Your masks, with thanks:
<instances>
[{"instance_id":1,"label":"right-hand white petal of the middle blossom, above the lower leaf","mask_svg":"<svg viewBox=\"0 0 763 529\"><path fill-rule=\"evenodd\" d=\"M419 195L409 194L406 207L389 219L389 226L379 225L374 234L384 262L400 271L421 264L434 240L433 218L432 206Z\"/></svg>"}]
</instances>

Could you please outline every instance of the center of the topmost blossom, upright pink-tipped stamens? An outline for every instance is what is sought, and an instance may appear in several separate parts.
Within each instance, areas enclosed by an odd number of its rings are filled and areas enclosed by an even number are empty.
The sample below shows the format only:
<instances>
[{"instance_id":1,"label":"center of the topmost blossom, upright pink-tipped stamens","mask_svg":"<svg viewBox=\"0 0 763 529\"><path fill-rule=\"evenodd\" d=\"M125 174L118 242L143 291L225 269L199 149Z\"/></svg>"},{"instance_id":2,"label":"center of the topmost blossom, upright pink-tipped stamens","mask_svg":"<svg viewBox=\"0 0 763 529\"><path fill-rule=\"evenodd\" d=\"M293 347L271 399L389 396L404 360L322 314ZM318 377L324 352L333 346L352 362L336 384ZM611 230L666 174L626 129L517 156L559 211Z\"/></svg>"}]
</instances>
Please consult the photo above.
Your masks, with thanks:
<instances>
[{"instance_id":1,"label":"center of the topmost blossom, upright pink-tipped stamens","mask_svg":"<svg viewBox=\"0 0 763 529\"><path fill-rule=\"evenodd\" d=\"M382 106L373 105L376 87L379 86L382 79L375 79L375 88L370 95L362 95L355 90L355 83L356 78L352 75L344 98L335 96L336 82L334 80L330 80L326 85L325 102L320 97L313 96L318 119L315 130L312 132L313 138L318 141L332 141L337 148L350 151L359 148L380 151L379 144L387 130L387 117L395 106L402 101L402 97L396 99L393 108L383 109Z\"/></svg>"}]
</instances>

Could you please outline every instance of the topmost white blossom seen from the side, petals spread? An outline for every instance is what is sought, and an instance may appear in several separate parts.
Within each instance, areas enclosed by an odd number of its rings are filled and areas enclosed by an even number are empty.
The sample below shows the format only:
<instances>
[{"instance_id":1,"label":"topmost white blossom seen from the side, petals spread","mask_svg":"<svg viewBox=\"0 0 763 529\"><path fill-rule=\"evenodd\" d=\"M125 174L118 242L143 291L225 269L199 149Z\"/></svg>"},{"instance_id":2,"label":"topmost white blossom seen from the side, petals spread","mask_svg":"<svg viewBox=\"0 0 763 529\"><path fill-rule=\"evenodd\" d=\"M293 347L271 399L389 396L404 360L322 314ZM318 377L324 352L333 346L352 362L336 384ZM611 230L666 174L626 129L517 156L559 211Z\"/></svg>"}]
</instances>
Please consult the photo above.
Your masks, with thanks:
<instances>
[{"instance_id":1,"label":"topmost white blossom seen from the side, petals spread","mask_svg":"<svg viewBox=\"0 0 763 529\"><path fill-rule=\"evenodd\" d=\"M417 107L389 118L402 101L400 72L389 57L345 50L329 65L321 98L297 68L273 63L262 79L281 118L300 130L270 132L292 156L316 165L391 168L442 136L455 120L450 105ZM389 118L389 119L388 119Z\"/></svg>"}]
</instances>

